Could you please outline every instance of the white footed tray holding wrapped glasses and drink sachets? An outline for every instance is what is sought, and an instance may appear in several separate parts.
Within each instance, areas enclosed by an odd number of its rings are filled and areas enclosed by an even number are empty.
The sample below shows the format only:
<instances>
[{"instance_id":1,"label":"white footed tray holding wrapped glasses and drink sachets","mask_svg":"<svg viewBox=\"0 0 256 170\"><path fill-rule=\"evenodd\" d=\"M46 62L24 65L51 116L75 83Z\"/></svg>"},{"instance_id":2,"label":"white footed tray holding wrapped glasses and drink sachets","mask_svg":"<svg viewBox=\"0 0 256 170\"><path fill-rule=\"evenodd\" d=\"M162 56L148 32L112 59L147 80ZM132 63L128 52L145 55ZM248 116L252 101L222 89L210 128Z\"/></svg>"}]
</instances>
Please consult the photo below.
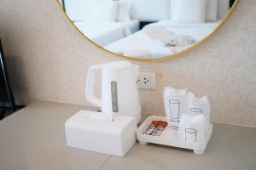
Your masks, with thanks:
<instances>
[{"instance_id":1,"label":"white footed tray holding wrapped glasses and drink sachets","mask_svg":"<svg viewBox=\"0 0 256 170\"><path fill-rule=\"evenodd\" d=\"M194 150L195 154L204 153L207 148L207 144L212 136L212 123L209 125L209 130L207 132L206 139L201 142L188 142L183 139L173 139L170 134L170 129L166 127L160 136L151 136L148 134L143 134L147 129L148 125L152 121L166 121L165 116L148 116L148 118L143 122L143 124L137 129L137 139L140 144L163 144L178 148L184 148L189 150Z\"/></svg>"}]
</instances>

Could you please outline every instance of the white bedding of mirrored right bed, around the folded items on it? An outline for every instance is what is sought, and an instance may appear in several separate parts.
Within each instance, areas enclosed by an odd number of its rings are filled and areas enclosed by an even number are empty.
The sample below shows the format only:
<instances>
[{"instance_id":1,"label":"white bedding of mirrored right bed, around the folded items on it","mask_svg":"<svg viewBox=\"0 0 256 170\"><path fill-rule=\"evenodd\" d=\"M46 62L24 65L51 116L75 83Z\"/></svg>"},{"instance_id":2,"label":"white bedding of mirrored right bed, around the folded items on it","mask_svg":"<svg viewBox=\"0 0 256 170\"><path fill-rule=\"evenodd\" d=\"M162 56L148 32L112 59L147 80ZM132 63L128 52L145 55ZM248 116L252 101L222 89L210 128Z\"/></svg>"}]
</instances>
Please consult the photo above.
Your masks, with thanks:
<instances>
[{"instance_id":1,"label":"white bedding of mirrored right bed, around the folded items on it","mask_svg":"<svg viewBox=\"0 0 256 170\"><path fill-rule=\"evenodd\" d=\"M164 27L167 30L175 32L177 35L189 35L195 39L195 42L198 42L210 34L218 24L219 21L213 23L177 24L172 20L161 20L148 26ZM167 55L176 54L183 50L183 48L188 48L188 46L165 47L159 41L149 37L144 31L137 31L128 37L108 44L105 48L119 54L129 50L143 49L151 54L148 58L161 58Z\"/></svg>"}]
</instances>

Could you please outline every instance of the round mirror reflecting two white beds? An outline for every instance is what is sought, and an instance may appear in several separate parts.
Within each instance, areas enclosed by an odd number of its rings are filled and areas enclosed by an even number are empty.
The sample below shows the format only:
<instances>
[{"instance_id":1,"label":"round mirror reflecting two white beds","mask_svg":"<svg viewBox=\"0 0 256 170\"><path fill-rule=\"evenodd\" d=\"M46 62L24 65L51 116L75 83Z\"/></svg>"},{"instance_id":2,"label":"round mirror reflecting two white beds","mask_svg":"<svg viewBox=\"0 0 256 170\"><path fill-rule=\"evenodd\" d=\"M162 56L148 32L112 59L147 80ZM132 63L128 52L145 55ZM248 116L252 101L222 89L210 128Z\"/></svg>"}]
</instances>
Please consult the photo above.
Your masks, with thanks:
<instances>
[{"instance_id":1,"label":"round mirror reflecting two white beds","mask_svg":"<svg viewBox=\"0 0 256 170\"><path fill-rule=\"evenodd\" d=\"M238 0L56 0L97 47L135 60L168 59L210 37Z\"/></svg>"}]
</instances>

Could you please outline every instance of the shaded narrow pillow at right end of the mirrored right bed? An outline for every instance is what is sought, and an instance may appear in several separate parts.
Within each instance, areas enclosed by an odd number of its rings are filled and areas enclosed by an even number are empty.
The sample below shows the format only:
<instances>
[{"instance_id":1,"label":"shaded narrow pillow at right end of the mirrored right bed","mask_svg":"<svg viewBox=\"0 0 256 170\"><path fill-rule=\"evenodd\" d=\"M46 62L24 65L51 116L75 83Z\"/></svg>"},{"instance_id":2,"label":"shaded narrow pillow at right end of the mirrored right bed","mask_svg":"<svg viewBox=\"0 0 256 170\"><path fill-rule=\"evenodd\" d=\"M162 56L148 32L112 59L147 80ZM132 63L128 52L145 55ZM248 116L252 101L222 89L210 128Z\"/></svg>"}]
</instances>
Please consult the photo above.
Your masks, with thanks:
<instances>
[{"instance_id":1,"label":"shaded narrow pillow at right end of the mirrored right bed","mask_svg":"<svg viewBox=\"0 0 256 170\"><path fill-rule=\"evenodd\" d=\"M218 20L218 0L208 0L206 8L206 21Z\"/></svg>"}]
</instances>

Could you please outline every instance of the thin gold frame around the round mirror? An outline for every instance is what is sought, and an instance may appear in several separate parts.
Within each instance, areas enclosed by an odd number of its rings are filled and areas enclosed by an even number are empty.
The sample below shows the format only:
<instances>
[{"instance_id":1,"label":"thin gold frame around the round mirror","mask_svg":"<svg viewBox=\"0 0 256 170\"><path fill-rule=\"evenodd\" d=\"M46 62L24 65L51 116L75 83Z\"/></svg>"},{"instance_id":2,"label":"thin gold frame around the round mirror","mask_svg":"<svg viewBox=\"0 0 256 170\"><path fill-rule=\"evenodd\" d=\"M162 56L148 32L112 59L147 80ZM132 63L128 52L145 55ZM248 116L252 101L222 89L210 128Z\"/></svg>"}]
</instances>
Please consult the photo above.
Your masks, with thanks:
<instances>
[{"instance_id":1,"label":"thin gold frame around the round mirror","mask_svg":"<svg viewBox=\"0 0 256 170\"><path fill-rule=\"evenodd\" d=\"M218 29L224 25L224 22L229 18L230 14L233 12L234 8L236 8L237 3L239 3L240 0L236 0L235 3L233 4L233 6L230 8L229 12L224 16L224 19L221 20L221 22L219 23L219 25L207 36L204 37L203 39L201 39L201 41L199 42L195 42L193 45L191 45L189 48L183 49L182 51L178 52L177 54L172 54L166 57L162 57L159 59L136 59L136 58L132 58L132 57L128 57L128 56L123 56L121 54L115 54L111 51L108 51L108 49L102 48L101 46L97 45L96 42L93 42L92 40L90 40L89 37L86 37L81 31L79 31L79 28L77 26L75 26L72 22L72 20L70 20L70 18L67 16L67 14L65 13L64 9L61 6L61 3L58 0L55 0L55 3L57 4L57 6L61 9L62 14L64 14L69 22L69 24L71 24L76 31L79 32L79 34L84 37L84 39L88 42L91 42L96 48L101 48L103 51L107 52L108 54L112 54L115 57L118 57L120 59L129 59L129 60L133 60L133 61L142 61L142 62L148 62L148 61L162 61L162 60L166 60L166 59L173 59L175 57L177 57L178 55L181 54L185 54L187 52L189 52L191 49L196 48L197 46L201 45L201 43L207 41L208 38L212 37L212 35L218 31Z\"/></svg>"}]
</instances>

